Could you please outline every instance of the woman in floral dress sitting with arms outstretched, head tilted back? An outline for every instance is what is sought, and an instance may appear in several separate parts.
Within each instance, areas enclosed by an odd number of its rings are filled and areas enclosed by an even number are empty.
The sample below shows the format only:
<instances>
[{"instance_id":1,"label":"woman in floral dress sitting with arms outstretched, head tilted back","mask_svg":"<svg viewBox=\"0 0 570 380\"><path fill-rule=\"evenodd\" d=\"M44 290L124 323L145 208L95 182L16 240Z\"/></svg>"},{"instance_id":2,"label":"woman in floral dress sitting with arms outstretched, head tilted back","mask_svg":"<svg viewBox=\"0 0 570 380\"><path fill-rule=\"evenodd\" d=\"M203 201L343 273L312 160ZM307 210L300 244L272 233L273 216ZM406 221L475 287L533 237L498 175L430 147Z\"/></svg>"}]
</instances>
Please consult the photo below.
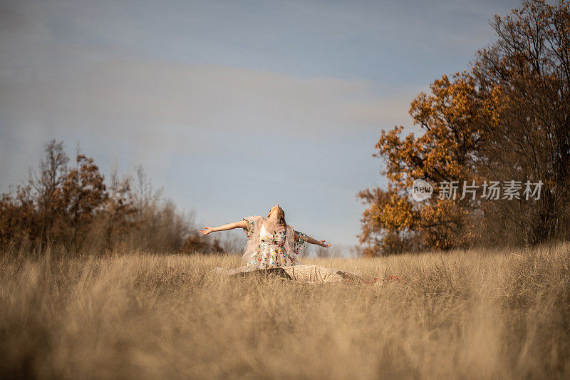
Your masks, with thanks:
<instances>
[{"instance_id":1,"label":"woman in floral dress sitting with arms outstretched, head tilted back","mask_svg":"<svg viewBox=\"0 0 570 380\"><path fill-rule=\"evenodd\" d=\"M338 269L319 267L318 265L303 265L296 257L306 243L331 247L325 240L316 240L303 232L294 230L285 222L285 212L278 205L269 210L267 217L244 217L239 222L229 223L219 227L204 227L202 235L211 232L243 228L248 238L242 259L247 265L236 269L216 268L217 272L236 274L252 272L259 269L282 268L287 277L302 282L352 282L360 277Z\"/></svg>"}]
</instances>

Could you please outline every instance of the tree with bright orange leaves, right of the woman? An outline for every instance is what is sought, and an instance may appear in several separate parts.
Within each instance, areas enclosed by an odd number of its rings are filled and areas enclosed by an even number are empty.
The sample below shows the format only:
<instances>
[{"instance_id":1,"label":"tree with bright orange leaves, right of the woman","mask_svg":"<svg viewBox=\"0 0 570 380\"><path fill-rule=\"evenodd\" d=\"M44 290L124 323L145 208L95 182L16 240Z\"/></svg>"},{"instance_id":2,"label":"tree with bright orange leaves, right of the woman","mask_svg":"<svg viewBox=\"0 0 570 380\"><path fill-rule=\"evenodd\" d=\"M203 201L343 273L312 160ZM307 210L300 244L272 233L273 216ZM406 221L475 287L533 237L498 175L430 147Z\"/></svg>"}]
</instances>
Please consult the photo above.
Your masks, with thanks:
<instances>
[{"instance_id":1,"label":"tree with bright orange leaves, right of the woman","mask_svg":"<svg viewBox=\"0 0 570 380\"><path fill-rule=\"evenodd\" d=\"M449 249L469 244L472 238L469 212L473 201L465 197L430 197L416 202L410 197L413 180L423 179L440 191L442 181L476 177L475 163L484 134L482 125L496 123L497 112L488 97L482 97L475 79L456 73L434 81L431 93L420 93L410 115L425 131L402 138L402 126L382 130L373 156L384 158L381 172L388 188L366 189L358 197L368 205L363 213L361 243L364 253L391 254L429 246ZM498 96L499 94L495 94Z\"/></svg>"}]
</instances>

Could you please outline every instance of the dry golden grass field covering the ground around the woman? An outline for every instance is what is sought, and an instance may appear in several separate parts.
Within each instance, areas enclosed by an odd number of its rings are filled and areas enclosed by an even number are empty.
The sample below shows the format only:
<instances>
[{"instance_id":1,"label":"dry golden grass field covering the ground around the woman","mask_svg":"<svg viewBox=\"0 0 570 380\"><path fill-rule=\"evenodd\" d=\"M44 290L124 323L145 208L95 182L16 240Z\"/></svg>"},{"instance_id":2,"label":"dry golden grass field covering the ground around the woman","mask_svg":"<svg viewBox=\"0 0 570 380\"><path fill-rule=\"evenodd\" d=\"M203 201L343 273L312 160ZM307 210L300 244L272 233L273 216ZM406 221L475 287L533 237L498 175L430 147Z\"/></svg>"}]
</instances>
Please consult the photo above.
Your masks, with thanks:
<instances>
[{"instance_id":1,"label":"dry golden grass field covering the ground around the woman","mask_svg":"<svg viewBox=\"0 0 570 380\"><path fill-rule=\"evenodd\" d=\"M405 284L217 277L238 257L0 260L0 376L570 376L570 245L305 260Z\"/></svg>"}]
</instances>

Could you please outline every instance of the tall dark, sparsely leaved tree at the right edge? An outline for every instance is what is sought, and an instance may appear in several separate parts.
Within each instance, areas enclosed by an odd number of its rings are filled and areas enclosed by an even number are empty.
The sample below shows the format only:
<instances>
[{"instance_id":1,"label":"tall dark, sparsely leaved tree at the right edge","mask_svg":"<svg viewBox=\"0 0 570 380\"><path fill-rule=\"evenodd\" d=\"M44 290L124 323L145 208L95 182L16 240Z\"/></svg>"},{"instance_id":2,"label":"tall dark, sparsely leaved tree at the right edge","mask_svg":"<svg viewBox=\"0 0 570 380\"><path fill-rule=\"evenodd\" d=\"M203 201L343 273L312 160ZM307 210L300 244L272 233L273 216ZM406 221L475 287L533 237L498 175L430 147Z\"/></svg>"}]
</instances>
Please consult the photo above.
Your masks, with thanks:
<instances>
[{"instance_id":1,"label":"tall dark, sparsely leaved tree at the right edge","mask_svg":"<svg viewBox=\"0 0 570 380\"><path fill-rule=\"evenodd\" d=\"M568 238L570 225L570 9L566 1L524 1L494 16L499 40L477 52L482 93L501 88L498 125L487 125L480 173L544 182L539 200L492 202L486 212L520 240ZM492 233L492 231L489 231Z\"/></svg>"}]
</instances>

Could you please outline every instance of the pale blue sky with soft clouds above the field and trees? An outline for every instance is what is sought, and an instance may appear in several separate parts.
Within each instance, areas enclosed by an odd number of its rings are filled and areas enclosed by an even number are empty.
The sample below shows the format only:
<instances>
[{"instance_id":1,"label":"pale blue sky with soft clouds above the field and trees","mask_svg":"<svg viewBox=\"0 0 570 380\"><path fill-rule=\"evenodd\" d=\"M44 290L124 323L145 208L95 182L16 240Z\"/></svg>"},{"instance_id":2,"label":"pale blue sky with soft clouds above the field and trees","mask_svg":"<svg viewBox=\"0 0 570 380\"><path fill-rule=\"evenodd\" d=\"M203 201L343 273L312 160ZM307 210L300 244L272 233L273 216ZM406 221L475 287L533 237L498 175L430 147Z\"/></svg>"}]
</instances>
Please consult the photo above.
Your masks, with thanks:
<instances>
[{"instance_id":1,"label":"pale blue sky with soft clouds above the field and trees","mask_svg":"<svg viewBox=\"0 0 570 380\"><path fill-rule=\"evenodd\" d=\"M358 242L380 131L519 1L0 1L0 192L44 145L143 165L198 227L266 215ZM235 231L234 231L235 232ZM234 233L219 232L219 233Z\"/></svg>"}]
</instances>

